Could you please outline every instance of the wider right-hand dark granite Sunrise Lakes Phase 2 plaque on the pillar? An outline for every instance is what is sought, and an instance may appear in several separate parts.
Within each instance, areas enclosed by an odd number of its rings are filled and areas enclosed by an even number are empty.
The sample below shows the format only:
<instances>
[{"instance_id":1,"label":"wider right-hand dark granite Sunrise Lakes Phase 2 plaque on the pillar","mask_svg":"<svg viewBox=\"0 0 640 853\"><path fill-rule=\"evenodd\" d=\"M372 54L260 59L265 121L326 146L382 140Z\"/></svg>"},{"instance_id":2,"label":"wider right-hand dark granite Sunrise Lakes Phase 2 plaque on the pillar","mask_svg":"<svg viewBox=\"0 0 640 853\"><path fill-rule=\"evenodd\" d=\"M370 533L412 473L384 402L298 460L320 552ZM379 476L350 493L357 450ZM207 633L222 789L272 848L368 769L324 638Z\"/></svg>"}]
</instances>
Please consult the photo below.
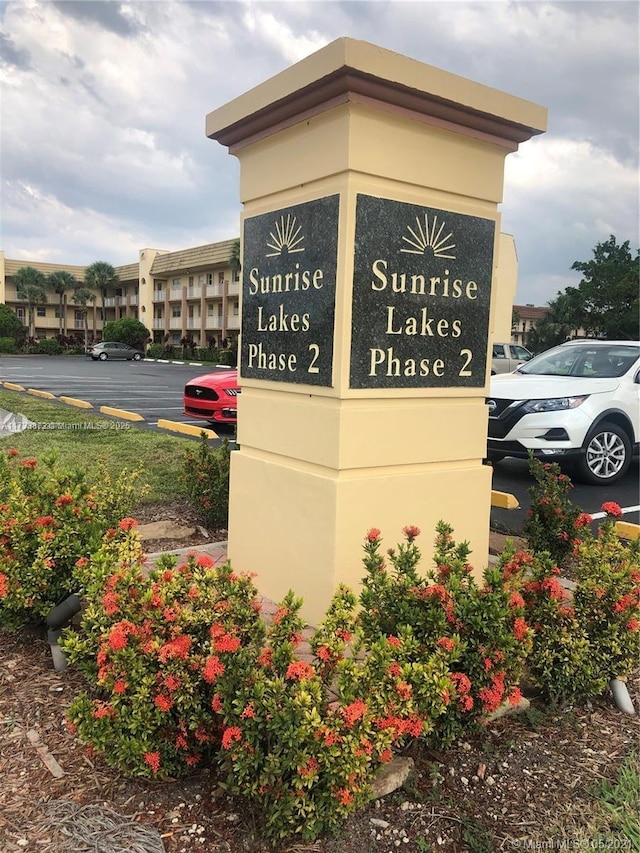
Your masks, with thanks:
<instances>
[{"instance_id":1,"label":"wider right-hand dark granite Sunrise Lakes Phase 2 plaque on the pillar","mask_svg":"<svg viewBox=\"0 0 640 853\"><path fill-rule=\"evenodd\" d=\"M481 387L495 223L358 195L351 388Z\"/></svg>"}]
</instances>

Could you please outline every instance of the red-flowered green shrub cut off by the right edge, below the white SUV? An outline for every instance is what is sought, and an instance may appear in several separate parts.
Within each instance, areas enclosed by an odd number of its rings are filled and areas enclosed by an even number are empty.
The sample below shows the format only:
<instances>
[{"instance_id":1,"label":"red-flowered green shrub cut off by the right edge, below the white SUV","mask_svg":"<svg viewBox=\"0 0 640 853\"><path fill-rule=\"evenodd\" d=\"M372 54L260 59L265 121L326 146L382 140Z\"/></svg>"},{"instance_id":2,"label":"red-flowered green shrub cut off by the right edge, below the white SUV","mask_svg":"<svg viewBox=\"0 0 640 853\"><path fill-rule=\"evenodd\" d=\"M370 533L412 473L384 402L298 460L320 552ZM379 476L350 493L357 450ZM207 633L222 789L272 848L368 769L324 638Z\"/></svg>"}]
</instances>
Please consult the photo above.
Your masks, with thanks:
<instances>
[{"instance_id":1,"label":"red-flowered green shrub cut off by the right edge, below the white SUV","mask_svg":"<svg viewBox=\"0 0 640 853\"><path fill-rule=\"evenodd\" d=\"M534 628L529 669L554 702L602 694L611 678L628 675L640 660L640 562L637 543L615 533L620 507L602 505L608 518L598 536L577 546L576 587L562 588L553 562L537 559L523 588Z\"/></svg>"}]
</instances>

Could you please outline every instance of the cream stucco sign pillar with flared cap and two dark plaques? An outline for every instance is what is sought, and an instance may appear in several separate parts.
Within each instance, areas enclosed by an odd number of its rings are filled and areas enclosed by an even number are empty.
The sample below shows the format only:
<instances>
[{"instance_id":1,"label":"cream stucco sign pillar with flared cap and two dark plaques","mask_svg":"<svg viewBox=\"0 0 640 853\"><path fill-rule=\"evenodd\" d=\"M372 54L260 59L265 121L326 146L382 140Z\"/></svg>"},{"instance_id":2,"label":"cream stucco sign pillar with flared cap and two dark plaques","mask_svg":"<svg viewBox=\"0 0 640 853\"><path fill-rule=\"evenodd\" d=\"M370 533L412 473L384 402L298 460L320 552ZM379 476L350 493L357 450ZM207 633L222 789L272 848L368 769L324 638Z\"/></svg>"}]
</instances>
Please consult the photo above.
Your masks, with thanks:
<instances>
[{"instance_id":1,"label":"cream stucco sign pillar with flared cap and two dark plaques","mask_svg":"<svg viewBox=\"0 0 640 853\"><path fill-rule=\"evenodd\" d=\"M317 623L440 519L488 553L483 466L504 160L546 110L339 39L207 116L240 161L242 328L229 557Z\"/></svg>"}]
</instances>

